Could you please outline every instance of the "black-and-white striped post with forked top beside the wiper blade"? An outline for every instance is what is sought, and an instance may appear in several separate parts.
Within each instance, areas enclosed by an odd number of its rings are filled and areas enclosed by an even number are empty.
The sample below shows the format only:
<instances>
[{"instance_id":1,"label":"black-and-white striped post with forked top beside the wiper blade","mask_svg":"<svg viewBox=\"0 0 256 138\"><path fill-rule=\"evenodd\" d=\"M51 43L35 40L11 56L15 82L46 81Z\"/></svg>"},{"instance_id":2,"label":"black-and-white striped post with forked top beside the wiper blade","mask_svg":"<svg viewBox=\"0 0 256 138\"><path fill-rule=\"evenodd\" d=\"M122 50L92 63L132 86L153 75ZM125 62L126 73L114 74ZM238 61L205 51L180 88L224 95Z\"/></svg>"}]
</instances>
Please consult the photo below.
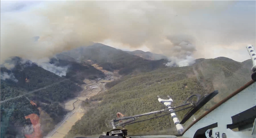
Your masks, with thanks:
<instances>
[{"instance_id":1,"label":"black-and-white striped post with forked top beside the wiper blade","mask_svg":"<svg viewBox=\"0 0 256 138\"><path fill-rule=\"evenodd\" d=\"M159 95L157 95L157 98L158 98L158 101L161 102L162 104L164 104L165 106L167 106L167 108L171 108L171 103L173 102L173 100L171 99L171 97L169 95L167 96L167 98L169 98L169 100L163 100L160 98ZM170 109L169 111L171 112L171 118L175 124L178 134L181 134L183 132L184 128L180 124L180 121L178 120L176 113L173 112L173 109Z\"/></svg>"}]
</instances>

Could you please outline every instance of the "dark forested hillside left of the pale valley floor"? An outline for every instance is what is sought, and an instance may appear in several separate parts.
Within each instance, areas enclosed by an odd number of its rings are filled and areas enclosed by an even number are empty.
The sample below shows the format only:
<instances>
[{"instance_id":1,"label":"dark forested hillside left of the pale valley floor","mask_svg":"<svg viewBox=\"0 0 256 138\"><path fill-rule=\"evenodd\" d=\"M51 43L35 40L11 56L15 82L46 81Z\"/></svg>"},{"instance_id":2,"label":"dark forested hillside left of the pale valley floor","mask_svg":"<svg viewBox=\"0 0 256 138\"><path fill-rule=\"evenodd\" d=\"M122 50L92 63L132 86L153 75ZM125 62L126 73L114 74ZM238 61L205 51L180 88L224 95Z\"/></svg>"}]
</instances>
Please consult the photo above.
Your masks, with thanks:
<instances>
[{"instance_id":1,"label":"dark forested hillside left of the pale valley floor","mask_svg":"<svg viewBox=\"0 0 256 138\"><path fill-rule=\"evenodd\" d=\"M12 75L9 79L1 78L1 137L23 137L23 128L31 125L25 116L32 113L45 120L41 122L42 134L45 135L66 114L59 103L75 97L82 89L70 79L44 70L35 63L22 63L20 58L16 59L12 70L1 68L1 77L3 74Z\"/></svg>"}]
</instances>

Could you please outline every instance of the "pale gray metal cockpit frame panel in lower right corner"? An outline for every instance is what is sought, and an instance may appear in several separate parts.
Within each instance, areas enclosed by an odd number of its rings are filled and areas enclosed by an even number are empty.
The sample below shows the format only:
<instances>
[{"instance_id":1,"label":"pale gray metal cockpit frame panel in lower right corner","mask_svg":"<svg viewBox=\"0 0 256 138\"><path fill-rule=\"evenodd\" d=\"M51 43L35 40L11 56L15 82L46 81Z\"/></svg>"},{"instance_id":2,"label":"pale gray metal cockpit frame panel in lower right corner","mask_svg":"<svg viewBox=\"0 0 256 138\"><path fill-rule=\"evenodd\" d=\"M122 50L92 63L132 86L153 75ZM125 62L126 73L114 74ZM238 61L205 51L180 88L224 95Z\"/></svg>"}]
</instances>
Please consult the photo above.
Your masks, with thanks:
<instances>
[{"instance_id":1,"label":"pale gray metal cockpit frame panel in lower right corner","mask_svg":"<svg viewBox=\"0 0 256 138\"><path fill-rule=\"evenodd\" d=\"M210 124L218 123L218 127L212 130L213 136L215 132L220 134L225 133L227 138L230 136L233 138L248 138L252 137L247 132L234 132L231 129L227 129L227 124L232 124L231 116L241 113L247 109L256 105L256 82L249 87L242 90L237 95L233 96L230 100L221 104L214 111L211 111L204 118L195 123L188 131L183 134L183 137L193 138L195 132ZM220 135L221 136L221 135ZM215 136L214 136L215 138Z\"/></svg>"}]
</instances>

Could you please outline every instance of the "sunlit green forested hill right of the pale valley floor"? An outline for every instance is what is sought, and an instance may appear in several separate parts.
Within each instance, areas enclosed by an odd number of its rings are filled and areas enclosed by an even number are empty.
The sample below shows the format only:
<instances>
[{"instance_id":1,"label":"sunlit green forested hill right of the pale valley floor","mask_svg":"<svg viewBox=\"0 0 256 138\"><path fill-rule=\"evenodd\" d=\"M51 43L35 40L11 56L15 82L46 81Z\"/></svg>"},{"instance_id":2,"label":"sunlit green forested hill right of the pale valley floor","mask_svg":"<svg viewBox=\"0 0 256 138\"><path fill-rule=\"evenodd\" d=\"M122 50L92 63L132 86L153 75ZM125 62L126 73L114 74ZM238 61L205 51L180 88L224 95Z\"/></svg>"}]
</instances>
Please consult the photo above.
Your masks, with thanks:
<instances>
[{"instance_id":1,"label":"sunlit green forested hill right of the pale valley floor","mask_svg":"<svg viewBox=\"0 0 256 138\"><path fill-rule=\"evenodd\" d=\"M78 134L91 136L109 131L111 128L108 122L116 118L117 112L129 116L163 109L164 106L157 101L157 95L163 99L171 95L174 100L172 105L177 106L190 95L204 95L218 90L219 94L195 114L197 118L216 102L251 80L251 66L251 60L240 63L230 60L198 59L193 66L164 68L124 76L106 84L110 88L106 93L90 98L89 104L85 106L91 107L92 110L75 123L66 137ZM95 101L98 101L98 104L95 104ZM176 113L179 120L183 119L186 112ZM141 117L140 120L154 116L158 115ZM184 127L190 123L191 119ZM129 135L176 134L171 116L128 125L125 128L128 129Z\"/></svg>"}]
</instances>

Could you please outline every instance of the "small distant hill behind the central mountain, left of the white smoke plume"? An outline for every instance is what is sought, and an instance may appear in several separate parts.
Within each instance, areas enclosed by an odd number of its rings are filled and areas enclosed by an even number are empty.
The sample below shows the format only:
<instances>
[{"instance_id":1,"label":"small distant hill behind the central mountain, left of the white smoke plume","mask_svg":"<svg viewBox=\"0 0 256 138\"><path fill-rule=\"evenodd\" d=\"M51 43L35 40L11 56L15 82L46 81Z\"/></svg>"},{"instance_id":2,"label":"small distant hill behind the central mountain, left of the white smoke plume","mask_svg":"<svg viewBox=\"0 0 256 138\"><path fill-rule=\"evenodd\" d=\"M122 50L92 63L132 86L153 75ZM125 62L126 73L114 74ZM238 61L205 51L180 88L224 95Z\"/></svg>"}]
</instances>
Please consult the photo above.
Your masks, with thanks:
<instances>
[{"instance_id":1,"label":"small distant hill behind the central mountain, left of the white smoke plume","mask_svg":"<svg viewBox=\"0 0 256 138\"><path fill-rule=\"evenodd\" d=\"M143 59L148 59L148 60L159 60L159 59L167 59L166 56L162 54L155 54L152 52L144 52L141 50L135 50L135 51L125 51L129 54L133 54L139 57L142 57Z\"/></svg>"}]
</instances>

